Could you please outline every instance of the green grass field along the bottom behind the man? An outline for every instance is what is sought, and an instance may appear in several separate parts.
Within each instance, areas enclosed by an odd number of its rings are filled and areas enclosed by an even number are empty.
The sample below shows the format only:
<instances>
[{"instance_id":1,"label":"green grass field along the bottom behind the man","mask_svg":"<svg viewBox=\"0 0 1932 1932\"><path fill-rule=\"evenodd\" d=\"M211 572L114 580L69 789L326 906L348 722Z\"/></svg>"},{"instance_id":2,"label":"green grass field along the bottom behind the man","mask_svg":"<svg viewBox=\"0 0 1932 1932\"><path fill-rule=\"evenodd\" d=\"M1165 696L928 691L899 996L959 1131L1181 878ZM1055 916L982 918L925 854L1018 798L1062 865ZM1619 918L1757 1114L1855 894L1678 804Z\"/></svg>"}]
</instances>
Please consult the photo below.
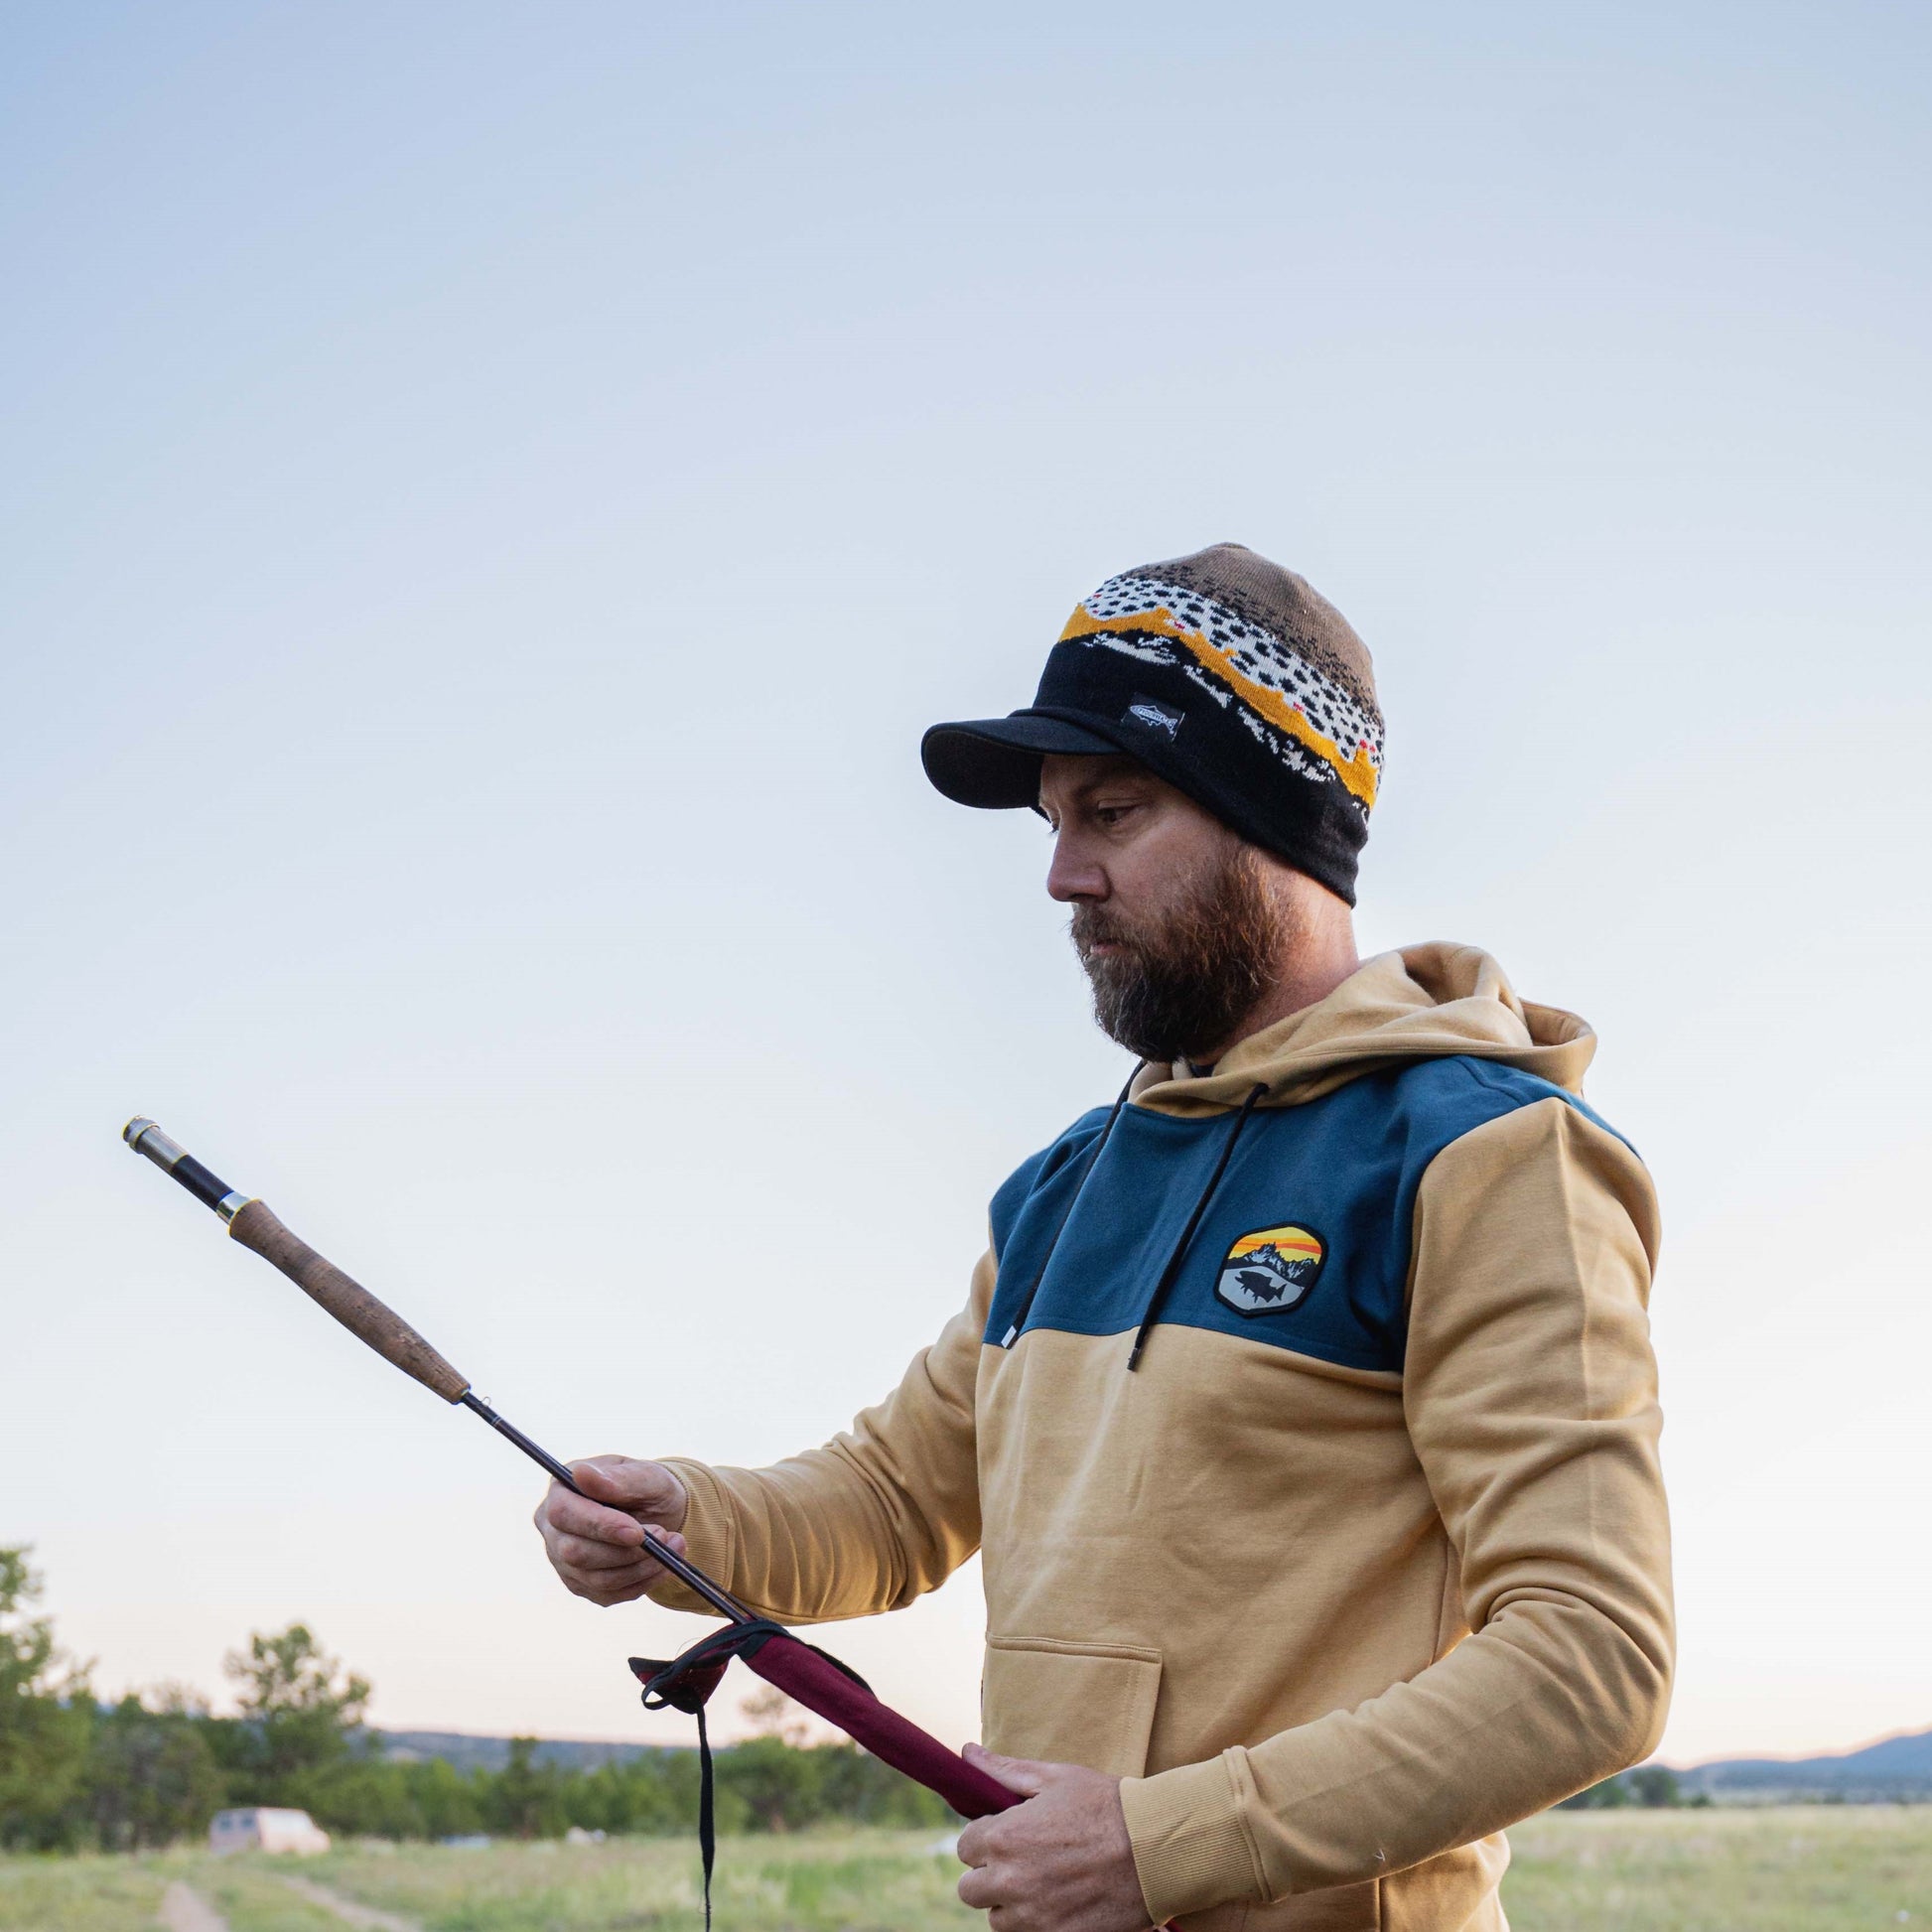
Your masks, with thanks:
<instances>
[{"instance_id":1,"label":"green grass field along the bottom behind the man","mask_svg":"<svg viewBox=\"0 0 1932 1932\"><path fill-rule=\"evenodd\" d=\"M1932 1928L1932 1806L1553 1812L1511 1833L1515 1932ZM736 1837L719 1845L719 1932L980 1926L931 1833ZM305 1884L288 1884L296 1876ZM147 1932L170 1884L230 1932L340 1932L313 1888L423 1932L697 1932L697 1857L678 1841L348 1847L325 1859L0 1859L0 1932ZM361 1917L365 1932L384 1932Z\"/></svg>"}]
</instances>

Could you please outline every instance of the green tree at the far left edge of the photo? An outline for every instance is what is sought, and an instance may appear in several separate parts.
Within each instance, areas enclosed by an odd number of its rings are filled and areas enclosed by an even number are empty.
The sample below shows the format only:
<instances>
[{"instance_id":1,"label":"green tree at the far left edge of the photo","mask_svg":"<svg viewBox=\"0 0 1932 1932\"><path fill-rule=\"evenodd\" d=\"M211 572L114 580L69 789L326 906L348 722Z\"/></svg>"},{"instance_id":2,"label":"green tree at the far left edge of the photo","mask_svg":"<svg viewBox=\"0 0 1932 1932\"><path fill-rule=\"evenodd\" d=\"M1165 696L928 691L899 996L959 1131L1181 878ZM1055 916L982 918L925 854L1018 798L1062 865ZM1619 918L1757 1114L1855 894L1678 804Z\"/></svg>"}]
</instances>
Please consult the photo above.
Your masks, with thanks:
<instances>
[{"instance_id":1,"label":"green tree at the far left edge of the photo","mask_svg":"<svg viewBox=\"0 0 1932 1932\"><path fill-rule=\"evenodd\" d=\"M81 1828L93 1696L52 1619L25 1613L39 1598L27 1549L0 1548L0 1845L52 1849Z\"/></svg>"}]
</instances>

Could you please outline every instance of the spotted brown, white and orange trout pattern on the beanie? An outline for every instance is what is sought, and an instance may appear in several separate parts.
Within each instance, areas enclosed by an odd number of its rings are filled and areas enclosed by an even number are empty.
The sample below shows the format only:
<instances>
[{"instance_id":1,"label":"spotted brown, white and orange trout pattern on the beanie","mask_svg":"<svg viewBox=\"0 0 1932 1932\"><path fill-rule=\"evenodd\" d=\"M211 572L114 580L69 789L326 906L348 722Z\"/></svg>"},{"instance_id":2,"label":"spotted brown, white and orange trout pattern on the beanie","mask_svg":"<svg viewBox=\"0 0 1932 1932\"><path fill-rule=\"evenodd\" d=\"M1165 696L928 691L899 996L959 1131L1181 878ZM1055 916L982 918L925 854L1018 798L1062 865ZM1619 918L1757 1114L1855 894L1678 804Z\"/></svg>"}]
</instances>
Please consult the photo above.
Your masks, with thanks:
<instances>
[{"instance_id":1,"label":"spotted brown, white and orange trout pattern on the beanie","mask_svg":"<svg viewBox=\"0 0 1932 1932\"><path fill-rule=\"evenodd\" d=\"M1235 545L1217 545L1233 551ZM1200 558L1151 564L1109 578L1074 607L1061 643L1090 643L1122 651L1150 665L1179 665L1188 680L1240 721L1289 771L1339 784L1364 827L1381 781L1381 713L1362 690L1354 667L1320 639L1294 636L1283 624L1244 616L1231 593L1254 609L1252 597L1223 583L1221 597L1190 570ZM1252 554L1252 553L1250 553ZM1262 562L1256 558L1256 562ZM1267 566L1275 568L1275 566ZM1312 601L1323 603L1300 578L1281 570ZM1186 582L1192 578L1194 582ZM1327 607L1341 622L1341 614Z\"/></svg>"}]
</instances>

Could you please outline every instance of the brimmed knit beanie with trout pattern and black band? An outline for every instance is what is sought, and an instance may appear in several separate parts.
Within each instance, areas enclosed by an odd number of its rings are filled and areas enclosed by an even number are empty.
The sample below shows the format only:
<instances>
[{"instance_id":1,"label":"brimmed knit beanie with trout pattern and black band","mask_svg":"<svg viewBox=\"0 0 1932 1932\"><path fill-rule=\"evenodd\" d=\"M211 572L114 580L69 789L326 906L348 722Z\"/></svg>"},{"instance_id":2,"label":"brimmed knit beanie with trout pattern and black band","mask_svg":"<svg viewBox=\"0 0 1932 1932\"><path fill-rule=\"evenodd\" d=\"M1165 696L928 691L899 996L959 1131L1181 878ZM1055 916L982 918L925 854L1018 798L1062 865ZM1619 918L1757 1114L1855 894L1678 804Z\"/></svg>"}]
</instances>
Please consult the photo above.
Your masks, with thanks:
<instances>
[{"instance_id":1,"label":"brimmed knit beanie with trout pattern and black band","mask_svg":"<svg viewBox=\"0 0 1932 1932\"><path fill-rule=\"evenodd\" d=\"M1142 564L1076 605L1032 705L935 724L925 775L962 806L1039 802L1055 752L1124 752L1354 904L1381 779L1368 647L1293 570L1238 543Z\"/></svg>"}]
</instances>

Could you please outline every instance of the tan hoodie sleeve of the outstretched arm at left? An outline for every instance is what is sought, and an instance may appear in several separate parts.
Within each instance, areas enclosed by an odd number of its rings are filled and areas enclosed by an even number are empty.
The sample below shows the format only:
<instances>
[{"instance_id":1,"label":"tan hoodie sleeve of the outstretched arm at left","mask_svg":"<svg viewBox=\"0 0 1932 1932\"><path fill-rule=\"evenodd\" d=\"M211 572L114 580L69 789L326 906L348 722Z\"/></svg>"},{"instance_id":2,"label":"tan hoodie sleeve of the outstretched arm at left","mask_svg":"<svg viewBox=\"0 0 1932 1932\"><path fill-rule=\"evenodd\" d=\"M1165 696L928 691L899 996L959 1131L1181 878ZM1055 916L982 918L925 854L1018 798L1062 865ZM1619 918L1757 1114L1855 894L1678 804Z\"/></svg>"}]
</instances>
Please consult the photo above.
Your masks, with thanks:
<instances>
[{"instance_id":1,"label":"tan hoodie sleeve of the outstretched arm at left","mask_svg":"<svg viewBox=\"0 0 1932 1932\"><path fill-rule=\"evenodd\" d=\"M692 1561L746 1607L784 1623L900 1609L980 1548L974 1383L995 1262L898 1387L823 1449L771 1468L667 1461L690 1493ZM653 1602L711 1615L667 1578Z\"/></svg>"}]
</instances>

